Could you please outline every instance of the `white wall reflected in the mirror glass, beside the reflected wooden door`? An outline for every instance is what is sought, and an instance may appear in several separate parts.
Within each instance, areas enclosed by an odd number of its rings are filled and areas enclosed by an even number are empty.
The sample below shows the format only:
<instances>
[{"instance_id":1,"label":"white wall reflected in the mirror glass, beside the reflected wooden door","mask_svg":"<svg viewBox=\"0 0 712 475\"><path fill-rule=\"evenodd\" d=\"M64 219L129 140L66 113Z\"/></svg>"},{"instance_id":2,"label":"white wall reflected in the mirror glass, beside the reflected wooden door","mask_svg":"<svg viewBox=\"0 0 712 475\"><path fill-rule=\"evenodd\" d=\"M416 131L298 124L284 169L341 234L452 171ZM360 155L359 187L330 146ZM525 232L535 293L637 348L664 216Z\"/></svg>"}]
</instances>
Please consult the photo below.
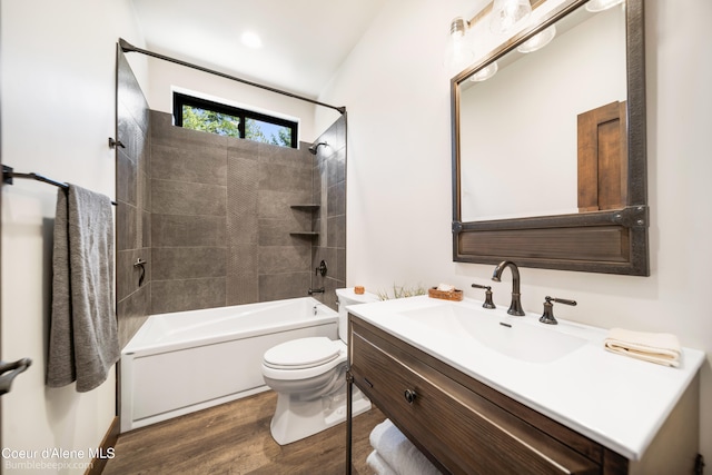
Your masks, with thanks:
<instances>
[{"instance_id":1,"label":"white wall reflected in the mirror glass, beside the reflected wooden door","mask_svg":"<svg viewBox=\"0 0 712 475\"><path fill-rule=\"evenodd\" d=\"M555 32L537 51L507 52L491 79L459 83L463 221L578 212L576 118L625 102L625 14L581 7ZM493 176L527 198L507 199Z\"/></svg>"}]
</instances>

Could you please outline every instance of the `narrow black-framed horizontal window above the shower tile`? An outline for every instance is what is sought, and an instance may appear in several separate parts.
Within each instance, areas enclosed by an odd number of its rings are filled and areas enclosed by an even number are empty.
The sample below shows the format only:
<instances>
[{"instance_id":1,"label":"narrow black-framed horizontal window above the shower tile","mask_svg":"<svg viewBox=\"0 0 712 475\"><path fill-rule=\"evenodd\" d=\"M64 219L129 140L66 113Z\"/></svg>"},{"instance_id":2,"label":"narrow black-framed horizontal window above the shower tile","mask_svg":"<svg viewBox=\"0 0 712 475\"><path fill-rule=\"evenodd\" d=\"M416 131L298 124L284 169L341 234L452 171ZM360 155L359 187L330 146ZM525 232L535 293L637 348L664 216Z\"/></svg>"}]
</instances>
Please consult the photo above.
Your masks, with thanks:
<instances>
[{"instance_id":1,"label":"narrow black-framed horizontal window above the shower tile","mask_svg":"<svg viewBox=\"0 0 712 475\"><path fill-rule=\"evenodd\" d=\"M297 122L174 92L178 127L297 148Z\"/></svg>"}]
</instances>

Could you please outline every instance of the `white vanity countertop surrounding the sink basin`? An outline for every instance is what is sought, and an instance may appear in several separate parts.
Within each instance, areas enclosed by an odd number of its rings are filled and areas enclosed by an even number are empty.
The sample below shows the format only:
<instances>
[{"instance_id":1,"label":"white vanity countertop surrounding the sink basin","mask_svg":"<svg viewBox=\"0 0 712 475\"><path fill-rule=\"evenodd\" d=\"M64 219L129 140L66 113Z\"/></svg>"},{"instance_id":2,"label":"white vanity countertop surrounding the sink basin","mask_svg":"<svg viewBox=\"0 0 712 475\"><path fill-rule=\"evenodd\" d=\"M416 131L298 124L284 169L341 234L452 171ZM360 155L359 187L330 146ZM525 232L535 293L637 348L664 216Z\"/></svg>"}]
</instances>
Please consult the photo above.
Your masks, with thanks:
<instances>
[{"instance_id":1,"label":"white vanity countertop surrounding the sink basin","mask_svg":"<svg viewBox=\"0 0 712 475\"><path fill-rule=\"evenodd\" d=\"M580 348L551 363L503 355L466 335L439 334L414 324L403 311L455 305L491 313L501 321L526 321L584 338ZM558 319L540 324L540 315L512 317L506 308L483 310L482 301L449 303L427 296L347 307L364 320L395 335L513 399L617 452L642 458L680 396L704 360L704 353L683 348L679 367L613 354L604 349L607 330Z\"/></svg>"}]
</instances>

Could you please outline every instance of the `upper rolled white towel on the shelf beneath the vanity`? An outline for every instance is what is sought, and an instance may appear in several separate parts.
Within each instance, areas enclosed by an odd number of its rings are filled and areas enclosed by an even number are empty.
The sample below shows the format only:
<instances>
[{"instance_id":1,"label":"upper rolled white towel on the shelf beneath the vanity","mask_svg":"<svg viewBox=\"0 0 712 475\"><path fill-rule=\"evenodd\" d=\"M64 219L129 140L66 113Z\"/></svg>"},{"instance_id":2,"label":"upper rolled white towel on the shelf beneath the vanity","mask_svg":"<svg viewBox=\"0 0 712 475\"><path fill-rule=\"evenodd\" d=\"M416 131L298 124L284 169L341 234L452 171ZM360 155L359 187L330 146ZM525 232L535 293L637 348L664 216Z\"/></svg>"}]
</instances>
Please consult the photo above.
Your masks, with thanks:
<instances>
[{"instance_id":1,"label":"upper rolled white towel on the shelf beneath the vanity","mask_svg":"<svg viewBox=\"0 0 712 475\"><path fill-rule=\"evenodd\" d=\"M390 419L378 424L368 437L378 456L398 475L437 475L441 472L406 438Z\"/></svg>"}]
</instances>

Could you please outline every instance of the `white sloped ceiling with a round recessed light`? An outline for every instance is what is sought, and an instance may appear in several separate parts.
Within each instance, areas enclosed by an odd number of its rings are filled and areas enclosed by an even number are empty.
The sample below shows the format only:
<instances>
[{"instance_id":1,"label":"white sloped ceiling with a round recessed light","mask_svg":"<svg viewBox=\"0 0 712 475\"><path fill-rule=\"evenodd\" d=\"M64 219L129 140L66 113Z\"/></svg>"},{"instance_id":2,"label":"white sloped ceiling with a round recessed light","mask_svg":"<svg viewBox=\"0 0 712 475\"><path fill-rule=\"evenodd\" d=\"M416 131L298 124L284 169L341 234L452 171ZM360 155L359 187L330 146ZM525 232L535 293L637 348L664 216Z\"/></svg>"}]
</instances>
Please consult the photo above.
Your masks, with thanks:
<instances>
[{"instance_id":1,"label":"white sloped ceiling with a round recessed light","mask_svg":"<svg viewBox=\"0 0 712 475\"><path fill-rule=\"evenodd\" d=\"M316 98L386 0L132 1L147 49Z\"/></svg>"}]
</instances>

